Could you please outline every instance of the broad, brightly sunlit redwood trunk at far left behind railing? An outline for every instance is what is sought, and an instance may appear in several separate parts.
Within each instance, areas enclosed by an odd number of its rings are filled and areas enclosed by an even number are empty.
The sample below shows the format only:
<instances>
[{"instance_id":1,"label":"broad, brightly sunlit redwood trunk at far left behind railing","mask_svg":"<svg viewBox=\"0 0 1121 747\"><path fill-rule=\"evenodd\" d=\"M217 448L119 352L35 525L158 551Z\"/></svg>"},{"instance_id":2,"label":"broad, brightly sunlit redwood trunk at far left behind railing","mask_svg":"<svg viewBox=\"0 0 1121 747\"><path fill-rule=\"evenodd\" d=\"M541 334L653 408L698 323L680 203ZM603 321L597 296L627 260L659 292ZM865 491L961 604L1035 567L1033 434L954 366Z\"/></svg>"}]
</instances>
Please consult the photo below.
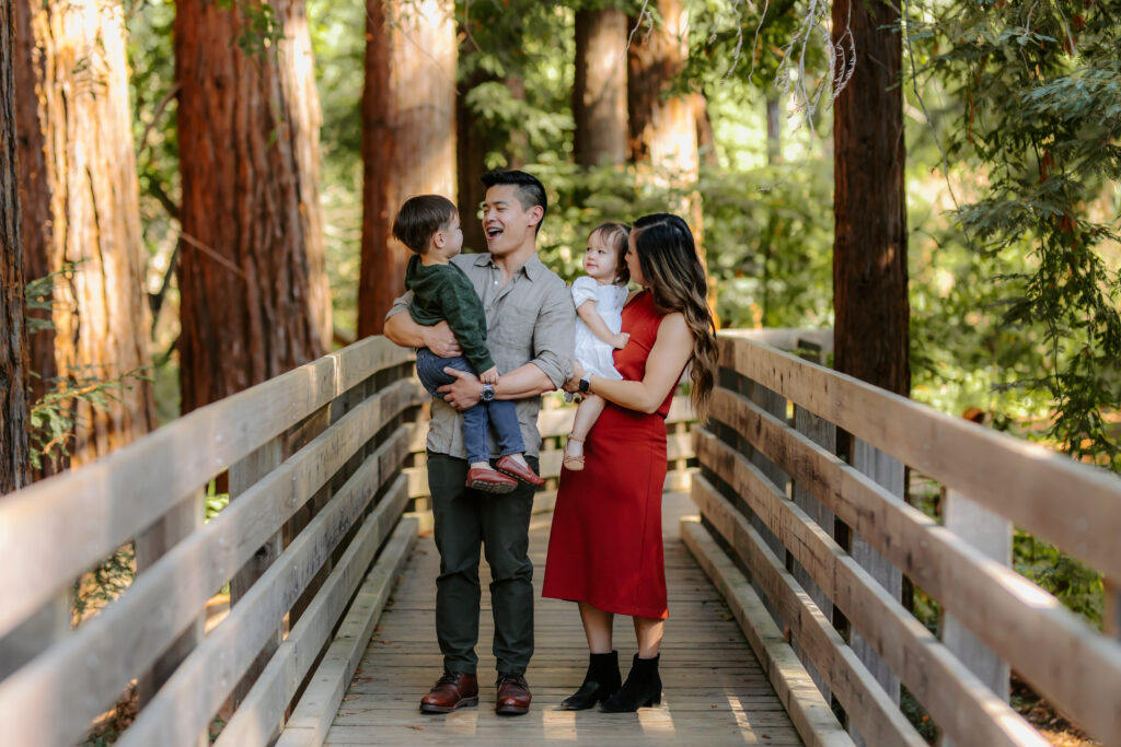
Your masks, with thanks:
<instances>
[{"instance_id":1,"label":"broad, brightly sunlit redwood trunk at far left behind railing","mask_svg":"<svg viewBox=\"0 0 1121 747\"><path fill-rule=\"evenodd\" d=\"M53 339L35 336L35 371L81 389L150 365L123 10L101 0L17 4L25 268L29 277L72 268L55 283ZM75 401L71 464L151 429L150 384L127 384L104 407Z\"/></svg>"}]
</instances>

